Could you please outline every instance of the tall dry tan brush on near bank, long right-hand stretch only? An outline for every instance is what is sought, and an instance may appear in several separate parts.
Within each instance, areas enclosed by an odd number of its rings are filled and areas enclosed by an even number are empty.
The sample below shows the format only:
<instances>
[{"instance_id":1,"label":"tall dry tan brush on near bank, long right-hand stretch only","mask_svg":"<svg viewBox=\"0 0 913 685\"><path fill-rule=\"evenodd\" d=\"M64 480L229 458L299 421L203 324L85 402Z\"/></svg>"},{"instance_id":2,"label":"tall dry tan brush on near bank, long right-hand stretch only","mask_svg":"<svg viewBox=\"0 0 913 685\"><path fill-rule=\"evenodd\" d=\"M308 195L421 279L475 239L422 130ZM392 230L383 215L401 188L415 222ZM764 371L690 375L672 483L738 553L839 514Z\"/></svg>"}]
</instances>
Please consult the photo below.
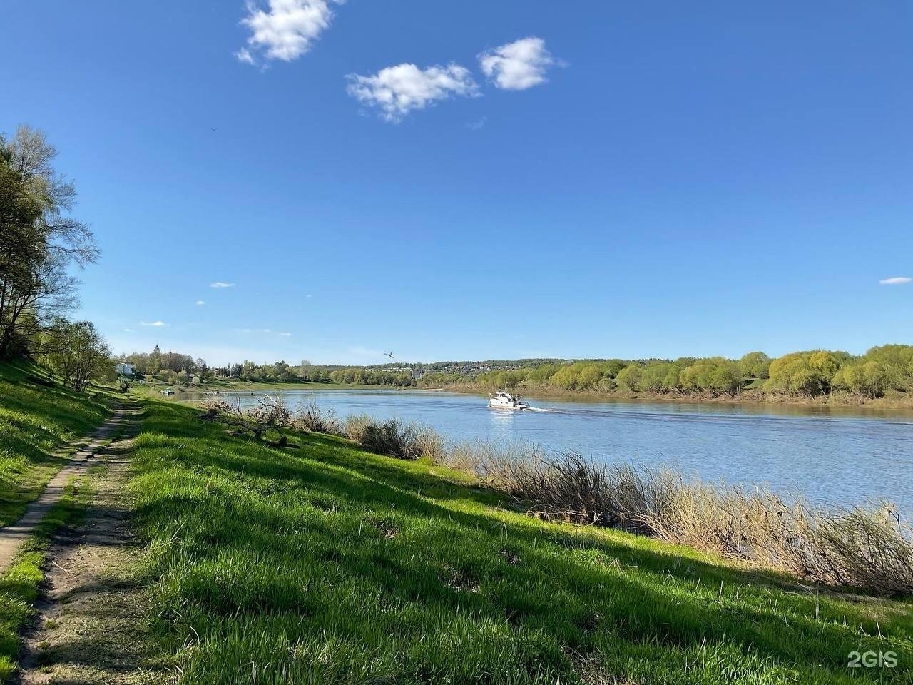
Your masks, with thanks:
<instances>
[{"instance_id":1,"label":"tall dry tan brush on near bank, long right-hand stretch only","mask_svg":"<svg viewBox=\"0 0 913 685\"><path fill-rule=\"evenodd\" d=\"M473 470L550 519L622 528L828 585L913 594L913 529L888 505L824 509L575 452L482 455ZM467 456L457 459L465 468Z\"/></svg>"}]
</instances>

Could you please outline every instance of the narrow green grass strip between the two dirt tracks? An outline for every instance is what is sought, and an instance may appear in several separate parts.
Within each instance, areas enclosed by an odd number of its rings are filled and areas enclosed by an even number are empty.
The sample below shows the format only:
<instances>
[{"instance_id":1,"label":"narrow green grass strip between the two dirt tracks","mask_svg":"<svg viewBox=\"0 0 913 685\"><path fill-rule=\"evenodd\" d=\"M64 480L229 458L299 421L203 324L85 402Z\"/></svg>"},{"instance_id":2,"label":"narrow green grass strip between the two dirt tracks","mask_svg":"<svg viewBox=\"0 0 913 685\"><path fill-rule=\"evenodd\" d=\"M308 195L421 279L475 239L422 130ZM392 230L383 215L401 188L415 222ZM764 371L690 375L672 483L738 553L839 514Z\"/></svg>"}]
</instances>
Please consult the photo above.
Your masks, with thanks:
<instances>
[{"instance_id":1,"label":"narrow green grass strip between the two dirt tracks","mask_svg":"<svg viewBox=\"0 0 913 685\"><path fill-rule=\"evenodd\" d=\"M47 511L32 536L0 574L0 683L9 680L16 669L19 632L32 616L38 587L44 580L42 566L51 535L64 525L79 522L89 502L89 488L71 480L63 497Z\"/></svg>"}]
</instances>

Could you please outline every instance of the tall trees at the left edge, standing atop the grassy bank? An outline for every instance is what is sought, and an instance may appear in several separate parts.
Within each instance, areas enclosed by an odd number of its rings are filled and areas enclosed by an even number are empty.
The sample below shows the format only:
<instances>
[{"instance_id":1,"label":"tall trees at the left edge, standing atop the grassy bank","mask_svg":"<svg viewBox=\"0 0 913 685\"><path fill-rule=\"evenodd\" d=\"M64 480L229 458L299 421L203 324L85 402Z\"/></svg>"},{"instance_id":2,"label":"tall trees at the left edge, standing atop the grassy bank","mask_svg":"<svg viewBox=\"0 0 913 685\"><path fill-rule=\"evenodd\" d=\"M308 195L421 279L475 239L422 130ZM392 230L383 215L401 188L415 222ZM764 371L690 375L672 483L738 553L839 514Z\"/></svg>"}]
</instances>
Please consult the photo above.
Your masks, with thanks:
<instances>
[{"instance_id":1,"label":"tall trees at the left edge, standing atop the grassy bank","mask_svg":"<svg viewBox=\"0 0 913 685\"><path fill-rule=\"evenodd\" d=\"M76 188L57 173L44 134L0 135L0 361L33 358L82 389L110 371L110 350L79 304L71 275L99 257L89 227L69 216Z\"/></svg>"}]
</instances>

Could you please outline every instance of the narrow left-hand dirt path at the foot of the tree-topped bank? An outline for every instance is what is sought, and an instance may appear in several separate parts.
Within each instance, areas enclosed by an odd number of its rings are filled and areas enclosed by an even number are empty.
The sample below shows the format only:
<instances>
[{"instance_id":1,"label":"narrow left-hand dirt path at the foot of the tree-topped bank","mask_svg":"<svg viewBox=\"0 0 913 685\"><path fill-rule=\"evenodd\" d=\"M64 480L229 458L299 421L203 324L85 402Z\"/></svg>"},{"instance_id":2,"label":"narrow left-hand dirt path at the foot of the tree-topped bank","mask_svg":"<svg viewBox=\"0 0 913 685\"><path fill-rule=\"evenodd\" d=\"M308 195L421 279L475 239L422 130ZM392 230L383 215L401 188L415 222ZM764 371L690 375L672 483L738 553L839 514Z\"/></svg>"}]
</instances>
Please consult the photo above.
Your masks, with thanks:
<instances>
[{"instance_id":1,"label":"narrow left-hand dirt path at the foot of the tree-topped bank","mask_svg":"<svg viewBox=\"0 0 913 685\"><path fill-rule=\"evenodd\" d=\"M131 407L116 409L104 426L92 434L89 445L80 447L69 464L60 469L58 474L47 483L47 488L41 493L41 496L28 505L23 517L12 525L0 528L0 572L10 564L22 543L35 532L47 510L61 498L69 479L85 472L92 455L99 450L101 444L111 433L131 427L134 413L135 411Z\"/></svg>"}]
</instances>

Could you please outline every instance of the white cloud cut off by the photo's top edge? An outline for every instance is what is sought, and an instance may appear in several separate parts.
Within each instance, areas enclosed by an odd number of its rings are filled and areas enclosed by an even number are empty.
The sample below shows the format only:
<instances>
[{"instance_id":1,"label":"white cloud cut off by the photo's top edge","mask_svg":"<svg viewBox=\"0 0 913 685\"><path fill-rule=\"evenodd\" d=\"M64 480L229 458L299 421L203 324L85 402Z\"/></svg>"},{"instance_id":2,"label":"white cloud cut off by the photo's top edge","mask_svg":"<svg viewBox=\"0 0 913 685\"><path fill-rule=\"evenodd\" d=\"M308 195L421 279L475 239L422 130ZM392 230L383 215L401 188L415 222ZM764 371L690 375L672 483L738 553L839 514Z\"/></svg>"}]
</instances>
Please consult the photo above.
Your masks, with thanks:
<instances>
[{"instance_id":1,"label":"white cloud cut off by the photo's top edge","mask_svg":"<svg viewBox=\"0 0 913 685\"><path fill-rule=\"evenodd\" d=\"M330 27L331 5L344 0L268 0L266 9L247 3L247 16L241 24L250 29L247 47L235 57L246 64L259 59L281 59L289 62L305 54Z\"/></svg>"}]
</instances>

